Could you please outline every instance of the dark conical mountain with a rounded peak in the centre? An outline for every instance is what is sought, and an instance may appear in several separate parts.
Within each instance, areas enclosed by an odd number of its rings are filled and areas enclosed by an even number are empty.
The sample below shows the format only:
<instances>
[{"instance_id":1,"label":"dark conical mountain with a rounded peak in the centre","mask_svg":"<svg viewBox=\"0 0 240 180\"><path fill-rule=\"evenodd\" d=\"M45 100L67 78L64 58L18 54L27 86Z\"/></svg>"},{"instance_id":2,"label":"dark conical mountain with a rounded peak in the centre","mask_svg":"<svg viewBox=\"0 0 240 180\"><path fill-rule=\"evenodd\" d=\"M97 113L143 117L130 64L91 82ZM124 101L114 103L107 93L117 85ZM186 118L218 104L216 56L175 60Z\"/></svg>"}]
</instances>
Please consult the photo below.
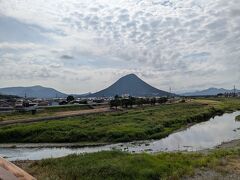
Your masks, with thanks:
<instances>
[{"instance_id":1,"label":"dark conical mountain with a rounded peak in the centre","mask_svg":"<svg viewBox=\"0 0 240 180\"><path fill-rule=\"evenodd\" d=\"M169 92L159 90L143 80L135 74L128 74L120 78L117 82L108 88L93 93L91 97L113 97L115 95L128 94L130 96L168 96Z\"/></svg>"}]
</instances>

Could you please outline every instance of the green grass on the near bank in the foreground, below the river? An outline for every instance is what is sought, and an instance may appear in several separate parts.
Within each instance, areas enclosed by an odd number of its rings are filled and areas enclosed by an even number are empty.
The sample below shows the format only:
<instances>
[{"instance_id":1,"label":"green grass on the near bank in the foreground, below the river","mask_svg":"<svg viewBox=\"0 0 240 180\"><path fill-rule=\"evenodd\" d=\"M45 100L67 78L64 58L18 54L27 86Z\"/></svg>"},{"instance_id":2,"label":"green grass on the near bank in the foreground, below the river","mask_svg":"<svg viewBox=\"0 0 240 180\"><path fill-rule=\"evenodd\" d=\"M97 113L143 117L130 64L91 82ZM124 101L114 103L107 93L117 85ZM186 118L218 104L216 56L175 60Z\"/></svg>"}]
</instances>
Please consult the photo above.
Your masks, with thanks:
<instances>
[{"instance_id":1,"label":"green grass on the near bank in the foreground, below the river","mask_svg":"<svg viewBox=\"0 0 240 180\"><path fill-rule=\"evenodd\" d=\"M196 169L221 173L239 167L240 150L217 150L209 154L129 154L99 152L36 161L25 168L37 179L179 179ZM234 164L234 161L236 164ZM235 172L234 172L235 173Z\"/></svg>"}]
</instances>

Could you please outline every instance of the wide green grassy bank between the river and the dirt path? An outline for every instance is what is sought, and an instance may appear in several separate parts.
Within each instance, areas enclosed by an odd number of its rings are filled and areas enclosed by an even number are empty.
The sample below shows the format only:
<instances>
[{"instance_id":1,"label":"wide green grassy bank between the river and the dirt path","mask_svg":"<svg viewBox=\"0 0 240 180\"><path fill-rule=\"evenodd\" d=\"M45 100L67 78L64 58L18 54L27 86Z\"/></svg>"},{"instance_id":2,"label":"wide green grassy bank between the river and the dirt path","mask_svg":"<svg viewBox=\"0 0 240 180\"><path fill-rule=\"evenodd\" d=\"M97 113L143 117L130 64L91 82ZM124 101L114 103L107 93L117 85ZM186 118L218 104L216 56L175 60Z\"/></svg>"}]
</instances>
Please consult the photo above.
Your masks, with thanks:
<instances>
[{"instance_id":1,"label":"wide green grassy bank between the river and the dirt path","mask_svg":"<svg viewBox=\"0 0 240 180\"><path fill-rule=\"evenodd\" d=\"M0 142L123 142L160 139L213 115L240 109L239 99L197 99L101 115L0 128Z\"/></svg>"}]
</instances>

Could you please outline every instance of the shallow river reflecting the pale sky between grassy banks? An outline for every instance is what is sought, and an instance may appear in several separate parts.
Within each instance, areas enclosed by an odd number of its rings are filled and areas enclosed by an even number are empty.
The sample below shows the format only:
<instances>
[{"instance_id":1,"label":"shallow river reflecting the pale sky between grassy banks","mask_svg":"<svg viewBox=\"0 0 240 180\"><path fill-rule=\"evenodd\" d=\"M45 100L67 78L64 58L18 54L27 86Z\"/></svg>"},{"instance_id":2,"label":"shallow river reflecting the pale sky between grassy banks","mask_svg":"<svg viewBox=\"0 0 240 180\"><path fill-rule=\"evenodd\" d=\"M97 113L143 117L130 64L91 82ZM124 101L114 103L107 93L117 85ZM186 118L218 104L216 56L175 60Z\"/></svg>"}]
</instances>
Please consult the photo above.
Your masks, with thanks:
<instances>
[{"instance_id":1,"label":"shallow river reflecting the pale sky between grassy banks","mask_svg":"<svg viewBox=\"0 0 240 180\"><path fill-rule=\"evenodd\" d=\"M240 122L235 121L237 115L240 115L240 111L216 116L209 121L173 133L161 140L137 141L80 148L0 148L0 156L14 161L27 159L39 160L50 157L62 157L74 153L92 153L113 149L132 153L212 149L223 142L240 139Z\"/></svg>"}]
</instances>

